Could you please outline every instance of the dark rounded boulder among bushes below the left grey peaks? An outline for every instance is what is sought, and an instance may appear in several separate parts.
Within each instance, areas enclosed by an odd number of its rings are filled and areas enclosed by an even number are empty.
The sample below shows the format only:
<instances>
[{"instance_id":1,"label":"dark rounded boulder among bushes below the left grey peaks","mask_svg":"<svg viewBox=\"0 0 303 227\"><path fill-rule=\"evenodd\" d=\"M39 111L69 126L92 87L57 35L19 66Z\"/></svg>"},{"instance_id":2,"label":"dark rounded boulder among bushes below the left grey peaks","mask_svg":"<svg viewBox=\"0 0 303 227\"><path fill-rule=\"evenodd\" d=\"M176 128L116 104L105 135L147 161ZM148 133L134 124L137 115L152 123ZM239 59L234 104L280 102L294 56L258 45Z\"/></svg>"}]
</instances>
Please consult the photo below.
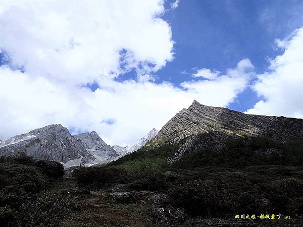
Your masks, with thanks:
<instances>
[{"instance_id":1,"label":"dark rounded boulder among bushes below the left grey peaks","mask_svg":"<svg viewBox=\"0 0 303 227\"><path fill-rule=\"evenodd\" d=\"M63 164L57 161L40 160L37 161L35 164L42 169L43 173L47 177L61 179L64 175L64 166Z\"/></svg>"}]
</instances>

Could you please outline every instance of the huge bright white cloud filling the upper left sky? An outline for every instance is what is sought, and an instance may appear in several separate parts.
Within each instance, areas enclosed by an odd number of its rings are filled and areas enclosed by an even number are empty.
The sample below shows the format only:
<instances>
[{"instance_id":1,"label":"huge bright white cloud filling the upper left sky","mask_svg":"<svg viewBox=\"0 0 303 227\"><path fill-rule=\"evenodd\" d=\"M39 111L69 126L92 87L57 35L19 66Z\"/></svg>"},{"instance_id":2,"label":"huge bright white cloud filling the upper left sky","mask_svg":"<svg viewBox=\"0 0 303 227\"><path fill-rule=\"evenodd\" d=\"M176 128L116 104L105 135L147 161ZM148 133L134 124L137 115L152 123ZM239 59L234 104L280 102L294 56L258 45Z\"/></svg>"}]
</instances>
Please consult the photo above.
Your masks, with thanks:
<instances>
[{"instance_id":1,"label":"huge bright white cloud filling the upper left sky","mask_svg":"<svg viewBox=\"0 0 303 227\"><path fill-rule=\"evenodd\" d=\"M79 84L173 59L162 1L4 1L2 9L1 48L32 75Z\"/></svg>"}]
</instances>

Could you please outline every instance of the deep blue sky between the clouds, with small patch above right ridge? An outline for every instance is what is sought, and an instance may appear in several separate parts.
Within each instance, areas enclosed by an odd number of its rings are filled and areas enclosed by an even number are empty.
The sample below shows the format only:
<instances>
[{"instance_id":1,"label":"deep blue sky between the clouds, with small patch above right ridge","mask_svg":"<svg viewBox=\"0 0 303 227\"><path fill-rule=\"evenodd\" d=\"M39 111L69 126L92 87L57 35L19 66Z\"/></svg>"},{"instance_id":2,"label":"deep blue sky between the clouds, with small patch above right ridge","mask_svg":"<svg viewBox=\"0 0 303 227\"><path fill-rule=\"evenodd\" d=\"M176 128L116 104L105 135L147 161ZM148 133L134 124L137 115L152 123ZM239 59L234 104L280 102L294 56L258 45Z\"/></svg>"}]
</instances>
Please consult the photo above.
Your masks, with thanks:
<instances>
[{"instance_id":1,"label":"deep blue sky between the clouds, with small patch above right ridge","mask_svg":"<svg viewBox=\"0 0 303 227\"><path fill-rule=\"evenodd\" d=\"M172 1L173 2L173 1ZM167 8L171 4L166 2ZM172 27L175 59L157 72L159 80L178 85L193 68L225 71L248 58L257 73L266 71L267 58L283 50L274 40L302 26L302 1L181 1L164 17ZM189 74L182 74L182 72ZM247 87L228 105L237 111L252 108L260 98Z\"/></svg>"}]
</instances>

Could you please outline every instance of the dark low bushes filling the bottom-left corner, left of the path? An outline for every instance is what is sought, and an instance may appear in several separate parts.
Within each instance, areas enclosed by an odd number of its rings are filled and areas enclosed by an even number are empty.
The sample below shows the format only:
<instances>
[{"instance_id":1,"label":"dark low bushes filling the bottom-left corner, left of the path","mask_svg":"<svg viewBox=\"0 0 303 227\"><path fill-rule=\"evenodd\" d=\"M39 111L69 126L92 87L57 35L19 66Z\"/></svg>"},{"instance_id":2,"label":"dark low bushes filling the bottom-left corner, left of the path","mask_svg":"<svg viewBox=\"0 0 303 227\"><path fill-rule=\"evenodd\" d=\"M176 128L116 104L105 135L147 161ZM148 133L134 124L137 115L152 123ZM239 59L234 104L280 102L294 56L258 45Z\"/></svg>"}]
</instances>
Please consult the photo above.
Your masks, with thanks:
<instances>
[{"instance_id":1,"label":"dark low bushes filling the bottom-left corner, left of the path","mask_svg":"<svg viewBox=\"0 0 303 227\"><path fill-rule=\"evenodd\" d=\"M31 158L1 158L0 225L59 226L71 201L49 191L54 182Z\"/></svg>"}]
</instances>

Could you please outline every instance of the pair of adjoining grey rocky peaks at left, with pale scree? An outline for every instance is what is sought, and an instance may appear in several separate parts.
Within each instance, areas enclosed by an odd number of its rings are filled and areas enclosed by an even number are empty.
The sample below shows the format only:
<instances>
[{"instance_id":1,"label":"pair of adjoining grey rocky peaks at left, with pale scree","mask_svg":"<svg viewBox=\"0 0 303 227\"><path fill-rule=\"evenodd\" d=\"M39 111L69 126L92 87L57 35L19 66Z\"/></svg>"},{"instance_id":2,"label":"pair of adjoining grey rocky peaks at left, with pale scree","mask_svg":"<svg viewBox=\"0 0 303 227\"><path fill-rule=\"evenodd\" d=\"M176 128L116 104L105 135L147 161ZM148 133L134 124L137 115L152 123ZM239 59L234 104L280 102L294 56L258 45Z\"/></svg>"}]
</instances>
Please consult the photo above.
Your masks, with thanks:
<instances>
[{"instance_id":1,"label":"pair of adjoining grey rocky peaks at left, with pale scree","mask_svg":"<svg viewBox=\"0 0 303 227\"><path fill-rule=\"evenodd\" d=\"M32 156L61 162L67 168L105 162L118 154L96 132L71 135L62 125L49 125L1 140L0 156Z\"/></svg>"}]
</instances>

